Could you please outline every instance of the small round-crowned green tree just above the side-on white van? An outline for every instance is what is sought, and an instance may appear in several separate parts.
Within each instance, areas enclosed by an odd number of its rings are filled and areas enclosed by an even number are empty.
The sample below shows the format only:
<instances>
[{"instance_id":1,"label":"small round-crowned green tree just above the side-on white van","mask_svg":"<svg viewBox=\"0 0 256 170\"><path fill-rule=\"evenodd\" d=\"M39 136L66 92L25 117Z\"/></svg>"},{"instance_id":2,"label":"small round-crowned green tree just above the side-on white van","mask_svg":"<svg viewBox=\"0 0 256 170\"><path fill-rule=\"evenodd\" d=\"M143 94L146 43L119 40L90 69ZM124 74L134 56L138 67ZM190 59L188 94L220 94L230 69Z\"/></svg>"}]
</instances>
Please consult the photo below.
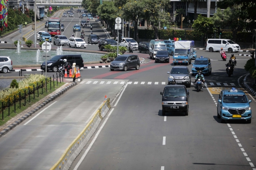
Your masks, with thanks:
<instances>
[{"instance_id":1,"label":"small round-crowned green tree just above the side-on white van","mask_svg":"<svg viewBox=\"0 0 256 170\"><path fill-rule=\"evenodd\" d=\"M208 38L208 33L213 31L213 21L208 17L202 17L201 14L194 20L192 25L195 31L200 32L205 38Z\"/></svg>"}]
</instances>

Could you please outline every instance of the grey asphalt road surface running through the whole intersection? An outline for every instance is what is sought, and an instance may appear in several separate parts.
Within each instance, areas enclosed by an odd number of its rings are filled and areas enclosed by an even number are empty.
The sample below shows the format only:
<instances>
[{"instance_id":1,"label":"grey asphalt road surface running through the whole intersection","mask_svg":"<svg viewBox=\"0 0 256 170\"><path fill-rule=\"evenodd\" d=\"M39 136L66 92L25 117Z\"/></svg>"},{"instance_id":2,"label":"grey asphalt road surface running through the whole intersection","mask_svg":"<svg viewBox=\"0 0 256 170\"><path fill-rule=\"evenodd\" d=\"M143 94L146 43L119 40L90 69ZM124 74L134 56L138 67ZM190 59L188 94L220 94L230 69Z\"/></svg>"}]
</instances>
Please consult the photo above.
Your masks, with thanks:
<instances>
[{"instance_id":1,"label":"grey asphalt road surface running through the whole intersection","mask_svg":"<svg viewBox=\"0 0 256 170\"><path fill-rule=\"evenodd\" d=\"M79 22L75 17L76 13L74 19L65 19L66 36L72 34L72 25ZM102 29L96 33L105 37ZM88 45L89 48L98 50L96 45ZM134 53L146 59L139 70L83 69L84 83L1 137L0 169L49 169L107 94L112 102L109 119L96 140L95 136L91 138L91 146L87 144L73 162L72 170L256 170L254 114L251 124L245 121L221 124L215 104L221 89L240 88L239 80L247 74L244 65L250 57L238 54L248 53L235 53L238 64L234 75L228 77L227 61L222 61L218 52L197 50L198 56L211 59L212 74L205 76L207 88L203 91L196 92L193 85L189 88L188 116L182 112L162 116L160 92L167 83L166 72L173 67L172 61L155 63L148 54ZM188 68L191 70L192 65ZM249 94L247 97L253 100L250 106L254 113L255 99ZM36 118L31 120L33 117ZM83 155L87 149L88 153Z\"/></svg>"}]
</instances>

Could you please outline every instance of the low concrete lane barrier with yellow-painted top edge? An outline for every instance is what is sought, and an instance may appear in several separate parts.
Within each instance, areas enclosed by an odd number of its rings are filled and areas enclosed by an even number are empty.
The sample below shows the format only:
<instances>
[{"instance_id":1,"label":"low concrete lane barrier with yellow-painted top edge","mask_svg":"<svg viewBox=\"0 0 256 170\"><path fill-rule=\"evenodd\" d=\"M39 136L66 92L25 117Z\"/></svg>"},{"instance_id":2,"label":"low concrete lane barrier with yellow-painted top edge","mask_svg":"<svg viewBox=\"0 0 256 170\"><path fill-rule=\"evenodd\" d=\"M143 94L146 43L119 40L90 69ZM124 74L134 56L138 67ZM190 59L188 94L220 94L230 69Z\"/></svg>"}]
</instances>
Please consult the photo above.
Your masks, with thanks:
<instances>
[{"instance_id":1,"label":"low concrete lane barrier with yellow-painted top edge","mask_svg":"<svg viewBox=\"0 0 256 170\"><path fill-rule=\"evenodd\" d=\"M90 140L91 136L96 131L96 128L99 126L101 120L105 117L110 108L110 98L108 98L101 104L99 110L95 111L93 117L84 127L82 132L66 148L61 158L50 170L68 170L70 168L72 162Z\"/></svg>"}]
</instances>

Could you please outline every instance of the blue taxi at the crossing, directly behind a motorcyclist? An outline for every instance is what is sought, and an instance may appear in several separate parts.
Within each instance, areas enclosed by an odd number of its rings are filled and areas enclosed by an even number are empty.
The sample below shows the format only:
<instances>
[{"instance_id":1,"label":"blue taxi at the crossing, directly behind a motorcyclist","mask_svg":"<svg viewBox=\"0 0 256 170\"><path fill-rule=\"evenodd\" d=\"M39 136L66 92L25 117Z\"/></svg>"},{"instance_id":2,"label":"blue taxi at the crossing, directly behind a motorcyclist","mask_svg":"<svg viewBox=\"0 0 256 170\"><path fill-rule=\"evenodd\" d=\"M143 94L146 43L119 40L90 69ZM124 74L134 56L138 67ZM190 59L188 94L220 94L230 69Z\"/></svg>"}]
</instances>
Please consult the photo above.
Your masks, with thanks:
<instances>
[{"instance_id":1,"label":"blue taxi at the crossing, directly behind a motorcyclist","mask_svg":"<svg viewBox=\"0 0 256 170\"><path fill-rule=\"evenodd\" d=\"M200 58L195 59L192 64L192 74L197 74L200 70L202 71L202 74L206 74L207 76L211 74L210 59L201 56Z\"/></svg>"}]
</instances>

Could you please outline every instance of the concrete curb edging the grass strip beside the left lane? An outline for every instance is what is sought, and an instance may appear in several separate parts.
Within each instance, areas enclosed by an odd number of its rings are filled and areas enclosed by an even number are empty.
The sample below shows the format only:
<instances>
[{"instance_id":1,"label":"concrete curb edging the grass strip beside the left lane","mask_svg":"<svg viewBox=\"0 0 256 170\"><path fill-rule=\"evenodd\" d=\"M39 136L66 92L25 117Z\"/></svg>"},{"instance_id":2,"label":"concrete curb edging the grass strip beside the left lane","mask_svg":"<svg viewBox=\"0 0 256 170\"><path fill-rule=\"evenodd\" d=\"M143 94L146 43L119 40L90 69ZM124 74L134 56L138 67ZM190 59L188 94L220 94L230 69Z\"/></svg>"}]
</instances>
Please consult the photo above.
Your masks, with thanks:
<instances>
[{"instance_id":1,"label":"concrete curb edging the grass strip beside the left lane","mask_svg":"<svg viewBox=\"0 0 256 170\"><path fill-rule=\"evenodd\" d=\"M82 79L82 78L81 78ZM54 101L57 97L59 97L60 95L64 94L67 90L69 90L70 88L72 88L73 86L77 85L78 83L80 83L81 80L80 78L77 80L76 83L70 83L70 85L67 85L66 87L64 87L62 90L60 90L59 92L53 94L51 97L49 97L48 99L46 99L44 102L42 102L39 106L37 106L34 110L31 110L29 112L27 112L24 116L22 116L20 119L17 119L14 123L10 124L7 128L3 129L0 132L0 137L4 136L5 134L7 134L11 129L13 129L14 127L16 127L17 125L19 125L21 122L23 122L24 120L26 120L29 116L31 116L32 114L36 113L38 110L40 110L41 108L43 108L47 103Z\"/></svg>"}]
</instances>

